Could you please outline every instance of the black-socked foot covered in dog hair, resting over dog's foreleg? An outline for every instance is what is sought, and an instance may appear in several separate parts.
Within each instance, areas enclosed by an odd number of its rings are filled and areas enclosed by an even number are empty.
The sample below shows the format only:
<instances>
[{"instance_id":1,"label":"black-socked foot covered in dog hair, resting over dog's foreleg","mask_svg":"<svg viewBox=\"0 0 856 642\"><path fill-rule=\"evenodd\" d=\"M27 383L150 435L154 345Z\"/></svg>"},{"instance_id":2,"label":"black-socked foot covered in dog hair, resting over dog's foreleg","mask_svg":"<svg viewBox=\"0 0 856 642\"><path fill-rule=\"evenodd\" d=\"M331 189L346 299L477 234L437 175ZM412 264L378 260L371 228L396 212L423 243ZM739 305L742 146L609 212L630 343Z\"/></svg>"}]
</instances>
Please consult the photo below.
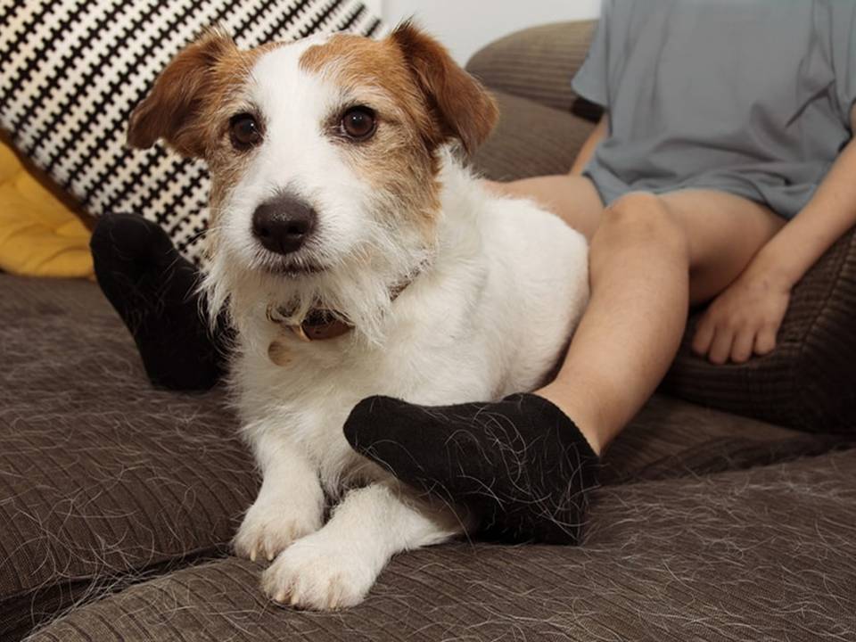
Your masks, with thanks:
<instances>
[{"instance_id":1,"label":"black-socked foot covered in dog hair, resting over dog's foreleg","mask_svg":"<svg viewBox=\"0 0 856 642\"><path fill-rule=\"evenodd\" d=\"M363 399L345 422L362 455L411 486L467 506L493 539L576 544L597 454L547 399L416 406Z\"/></svg>"}]
</instances>

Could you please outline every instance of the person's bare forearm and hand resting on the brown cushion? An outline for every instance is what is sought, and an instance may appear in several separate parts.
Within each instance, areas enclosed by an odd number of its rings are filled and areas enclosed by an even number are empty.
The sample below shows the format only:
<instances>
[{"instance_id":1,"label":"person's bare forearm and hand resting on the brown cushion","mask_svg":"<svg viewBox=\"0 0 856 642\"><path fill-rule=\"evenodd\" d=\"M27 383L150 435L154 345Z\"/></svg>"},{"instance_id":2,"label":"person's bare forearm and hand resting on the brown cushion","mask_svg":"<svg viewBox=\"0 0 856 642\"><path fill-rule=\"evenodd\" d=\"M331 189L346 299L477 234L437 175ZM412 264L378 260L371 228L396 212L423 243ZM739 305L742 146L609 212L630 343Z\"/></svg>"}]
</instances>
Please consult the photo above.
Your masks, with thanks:
<instances>
[{"instance_id":1,"label":"person's bare forearm and hand resting on the brown cushion","mask_svg":"<svg viewBox=\"0 0 856 642\"><path fill-rule=\"evenodd\" d=\"M856 132L856 106L851 113ZM844 147L811 201L761 248L737 280L713 300L693 350L714 363L742 363L776 347L791 289L856 224L856 139ZM718 332L733 334L728 354L712 353Z\"/></svg>"}]
</instances>

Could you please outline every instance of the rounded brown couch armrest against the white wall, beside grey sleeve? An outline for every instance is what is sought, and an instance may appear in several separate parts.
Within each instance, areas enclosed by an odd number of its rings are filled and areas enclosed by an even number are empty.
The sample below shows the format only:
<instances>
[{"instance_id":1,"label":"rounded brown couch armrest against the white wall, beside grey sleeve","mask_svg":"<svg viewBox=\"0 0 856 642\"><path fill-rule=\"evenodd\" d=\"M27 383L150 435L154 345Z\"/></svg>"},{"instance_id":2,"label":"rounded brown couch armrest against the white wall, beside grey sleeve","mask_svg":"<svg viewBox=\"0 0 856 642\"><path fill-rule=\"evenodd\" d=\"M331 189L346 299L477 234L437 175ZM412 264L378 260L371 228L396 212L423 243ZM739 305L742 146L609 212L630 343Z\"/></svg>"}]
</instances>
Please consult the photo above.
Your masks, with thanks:
<instances>
[{"instance_id":1,"label":"rounded brown couch armrest against the white wall, beside grey sleeve","mask_svg":"<svg viewBox=\"0 0 856 642\"><path fill-rule=\"evenodd\" d=\"M466 69L491 89L597 120L600 108L571 88L596 26L572 21L523 29L474 53Z\"/></svg>"}]
</instances>

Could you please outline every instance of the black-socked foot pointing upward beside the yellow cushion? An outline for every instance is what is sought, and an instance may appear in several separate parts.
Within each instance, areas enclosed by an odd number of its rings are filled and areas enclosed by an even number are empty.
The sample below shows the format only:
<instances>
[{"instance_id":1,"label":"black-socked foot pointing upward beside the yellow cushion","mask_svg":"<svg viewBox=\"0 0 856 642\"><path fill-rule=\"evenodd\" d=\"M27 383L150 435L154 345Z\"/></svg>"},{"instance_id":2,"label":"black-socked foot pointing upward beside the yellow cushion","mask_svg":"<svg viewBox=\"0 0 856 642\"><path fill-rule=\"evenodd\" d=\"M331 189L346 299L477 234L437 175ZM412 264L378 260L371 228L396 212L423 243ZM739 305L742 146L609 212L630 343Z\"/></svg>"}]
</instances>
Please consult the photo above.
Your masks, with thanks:
<instances>
[{"instance_id":1,"label":"black-socked foot pointing upward beside the yellow cushion","mask_svg":"<svg viewBox=\"0 0 856 642\"><path fill-rule=\"evenodd\" d=\"M169 236L138 215L98 219L90 242L98 284L134 335L152 383L208 390L223 372L228 332L211 333L196 292L199 274Z\"/></svg>"}]
</instances>

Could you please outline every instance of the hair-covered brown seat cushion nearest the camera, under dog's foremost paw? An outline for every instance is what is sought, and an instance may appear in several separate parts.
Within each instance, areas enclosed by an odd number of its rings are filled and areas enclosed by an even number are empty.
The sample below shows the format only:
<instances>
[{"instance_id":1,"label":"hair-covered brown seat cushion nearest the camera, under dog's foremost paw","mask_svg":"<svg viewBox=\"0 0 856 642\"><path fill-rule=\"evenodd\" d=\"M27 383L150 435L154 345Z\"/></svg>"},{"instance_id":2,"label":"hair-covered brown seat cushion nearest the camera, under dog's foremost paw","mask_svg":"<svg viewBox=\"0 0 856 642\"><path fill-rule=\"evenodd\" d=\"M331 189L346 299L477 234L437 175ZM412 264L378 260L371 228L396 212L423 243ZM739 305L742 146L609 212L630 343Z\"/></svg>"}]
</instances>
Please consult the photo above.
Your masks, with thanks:
<instances>
[{"instance_id":1,"label":"hair-covered brown seat cushion nearest the camera, under dog's foremost paw","mask_svg":"<svg viewBox=\"0 0 856 642\"><path fill-rule=\"evenodd\" d=\"M600 490L583 547L396 557L366 602L300 613L220 560L70 613L31 642L856 638L856 452Z\"/></svg>"}]
</instances>

